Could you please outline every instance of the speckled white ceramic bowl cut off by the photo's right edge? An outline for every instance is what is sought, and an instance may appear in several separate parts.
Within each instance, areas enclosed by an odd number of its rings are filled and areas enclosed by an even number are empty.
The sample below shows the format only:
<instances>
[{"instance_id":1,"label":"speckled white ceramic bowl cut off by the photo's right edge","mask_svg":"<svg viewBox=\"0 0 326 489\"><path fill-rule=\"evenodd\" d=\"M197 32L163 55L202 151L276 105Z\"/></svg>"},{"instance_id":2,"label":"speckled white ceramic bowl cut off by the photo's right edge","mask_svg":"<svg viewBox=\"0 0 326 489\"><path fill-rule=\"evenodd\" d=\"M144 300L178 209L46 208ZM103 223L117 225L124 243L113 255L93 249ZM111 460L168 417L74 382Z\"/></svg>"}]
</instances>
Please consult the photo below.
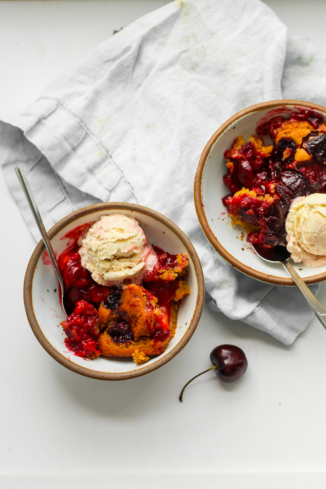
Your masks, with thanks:
<instances>
[{"instance_id":1,"label":"speckled white ceramic bowl cut off by the photo's right edge","mask_svg":"<svg viewBox=\"0 0 326 489\"><path fill-rule=\"evenodd\" d=\"M246 242L247 233L241 227L232 226L232 219L222 204L222 197L230 193L222 178L226 173L223 154L232 147L237 136L243 135L248 140L262 122L276 115L288 117L291 112L301 108L317 111L323 115L324 121L326 120L325 107L297 100L274 100L238 112L227 120L206 144L195 178L196 212L208 241L233 267L250 277L275 285L295 284L282 265L269 264L256 255L251 245ZM264 136L264 142L271 144L272 141ZM326 279L326 266L310 268L302 263L291 263L307 284Z\"/></svg>"}]
</instances>

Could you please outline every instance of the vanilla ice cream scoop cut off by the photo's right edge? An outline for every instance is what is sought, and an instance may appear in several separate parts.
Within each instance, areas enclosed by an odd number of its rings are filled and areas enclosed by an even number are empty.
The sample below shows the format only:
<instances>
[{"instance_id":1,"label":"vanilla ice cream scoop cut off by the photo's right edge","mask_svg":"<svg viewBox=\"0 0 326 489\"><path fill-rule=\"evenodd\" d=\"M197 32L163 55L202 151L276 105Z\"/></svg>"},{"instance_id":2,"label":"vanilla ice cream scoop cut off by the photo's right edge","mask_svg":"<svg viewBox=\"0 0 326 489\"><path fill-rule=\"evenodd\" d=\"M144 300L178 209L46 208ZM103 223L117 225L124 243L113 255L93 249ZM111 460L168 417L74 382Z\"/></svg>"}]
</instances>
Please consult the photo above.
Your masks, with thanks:
<instances>
[{"instance_id":1,"label":"vanilla ice cream scoop cut off by the photo's right edge","mask_svg":"<svg viewBox=\"0 0 326 489\"><path fill-rule=\"evenodd\" d=\"M297 197L285 221L287 250L307 267L326 265L326 194Z\"/></svg>"}]
</instances>

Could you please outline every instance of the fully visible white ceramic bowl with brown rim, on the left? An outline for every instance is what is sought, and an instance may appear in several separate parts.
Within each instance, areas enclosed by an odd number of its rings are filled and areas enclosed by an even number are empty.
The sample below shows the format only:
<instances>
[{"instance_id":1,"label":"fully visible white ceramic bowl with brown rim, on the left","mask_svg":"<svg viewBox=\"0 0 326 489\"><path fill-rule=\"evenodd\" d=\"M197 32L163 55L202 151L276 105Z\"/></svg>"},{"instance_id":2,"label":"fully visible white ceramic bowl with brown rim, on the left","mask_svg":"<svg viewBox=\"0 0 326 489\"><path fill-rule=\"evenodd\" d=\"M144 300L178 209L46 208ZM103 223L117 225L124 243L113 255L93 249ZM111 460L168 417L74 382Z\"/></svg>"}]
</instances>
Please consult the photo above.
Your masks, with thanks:
<instances>
[{"instance_id":1,"label":"fully visible white ceramic bowl with brown rim, on the left","mask_svg":"<svg viewBox=\"0 0 326 489\"><path fill-rule=\"evenodd\" d=\"M65 234L76 226L94 222L103 215L115 212L134 218L144 230L148 242L161 246L170 253L187 253L187 278L191 294L182 299L174 338L162 355L153 356L143 365L136 365L132 358L99 356L88 360L76 356L65 346L65 334L59 323L65 319L60 307L59 281L43 242L35 248L29 261L24 280L24 304L33 333L55 360L70 370L87 377L120 380L148 374L173 358L190 340L198 324L204 303L204 278L196 251L187 236L169 219L141 205L110 202L84 207L48 232L57 256L66 248Z\"/></svg>"}]
</instances>

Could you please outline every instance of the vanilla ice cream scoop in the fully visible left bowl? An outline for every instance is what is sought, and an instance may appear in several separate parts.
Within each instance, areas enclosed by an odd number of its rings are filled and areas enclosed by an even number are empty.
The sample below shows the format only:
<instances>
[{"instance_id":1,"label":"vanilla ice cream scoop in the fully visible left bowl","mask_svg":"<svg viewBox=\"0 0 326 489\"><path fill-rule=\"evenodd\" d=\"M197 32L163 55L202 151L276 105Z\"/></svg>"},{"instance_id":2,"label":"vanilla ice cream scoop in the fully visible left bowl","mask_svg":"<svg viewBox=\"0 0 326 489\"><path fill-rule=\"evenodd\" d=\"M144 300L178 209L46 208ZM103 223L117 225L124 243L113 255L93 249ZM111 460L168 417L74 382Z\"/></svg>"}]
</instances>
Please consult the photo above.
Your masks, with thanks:
<instances>
[{"instance_id":1,"label":"vanilla ice cream scoop in the fully visible left bowl","mask_svg":"<svg viewBox=\"0 0 326 489\"><path fill-rule=\"evenodd\" d=\"M88 230L79 249L82 266L101 285L118 285L131 277L142 279L156 255L135 219L122 214L102 216Z\"/></svg>"}]
</instances>

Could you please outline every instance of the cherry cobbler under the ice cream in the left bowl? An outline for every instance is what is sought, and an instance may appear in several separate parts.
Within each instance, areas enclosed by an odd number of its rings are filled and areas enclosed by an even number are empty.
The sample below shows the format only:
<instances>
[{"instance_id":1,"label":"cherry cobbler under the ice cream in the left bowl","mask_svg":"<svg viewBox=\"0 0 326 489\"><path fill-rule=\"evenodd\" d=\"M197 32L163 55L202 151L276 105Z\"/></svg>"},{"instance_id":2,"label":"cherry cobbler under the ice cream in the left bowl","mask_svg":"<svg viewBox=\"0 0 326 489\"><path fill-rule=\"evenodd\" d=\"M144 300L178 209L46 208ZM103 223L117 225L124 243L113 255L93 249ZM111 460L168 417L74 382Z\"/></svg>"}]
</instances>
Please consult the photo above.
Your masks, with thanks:
<instances>
[{"instance_id":1,"label":"cherry cobbler under the ice cream in the left bowl","mask_svg":"<svg viewBox=\"0 0 326 489\"><path fill-rule=\"evenodd\" d=\"M146 269L141 283L96 283L81 263L78 240L92 223L69 233L67 248L58 259L64 277L65 309L61 323L65 344L78 356L133 357L137 364L163 353L174 337L178 307L190 290L185 253L170 254L151 247L155 265ZM80 241L79 241L80 242Z\"/></svg>"}]
</instances>

